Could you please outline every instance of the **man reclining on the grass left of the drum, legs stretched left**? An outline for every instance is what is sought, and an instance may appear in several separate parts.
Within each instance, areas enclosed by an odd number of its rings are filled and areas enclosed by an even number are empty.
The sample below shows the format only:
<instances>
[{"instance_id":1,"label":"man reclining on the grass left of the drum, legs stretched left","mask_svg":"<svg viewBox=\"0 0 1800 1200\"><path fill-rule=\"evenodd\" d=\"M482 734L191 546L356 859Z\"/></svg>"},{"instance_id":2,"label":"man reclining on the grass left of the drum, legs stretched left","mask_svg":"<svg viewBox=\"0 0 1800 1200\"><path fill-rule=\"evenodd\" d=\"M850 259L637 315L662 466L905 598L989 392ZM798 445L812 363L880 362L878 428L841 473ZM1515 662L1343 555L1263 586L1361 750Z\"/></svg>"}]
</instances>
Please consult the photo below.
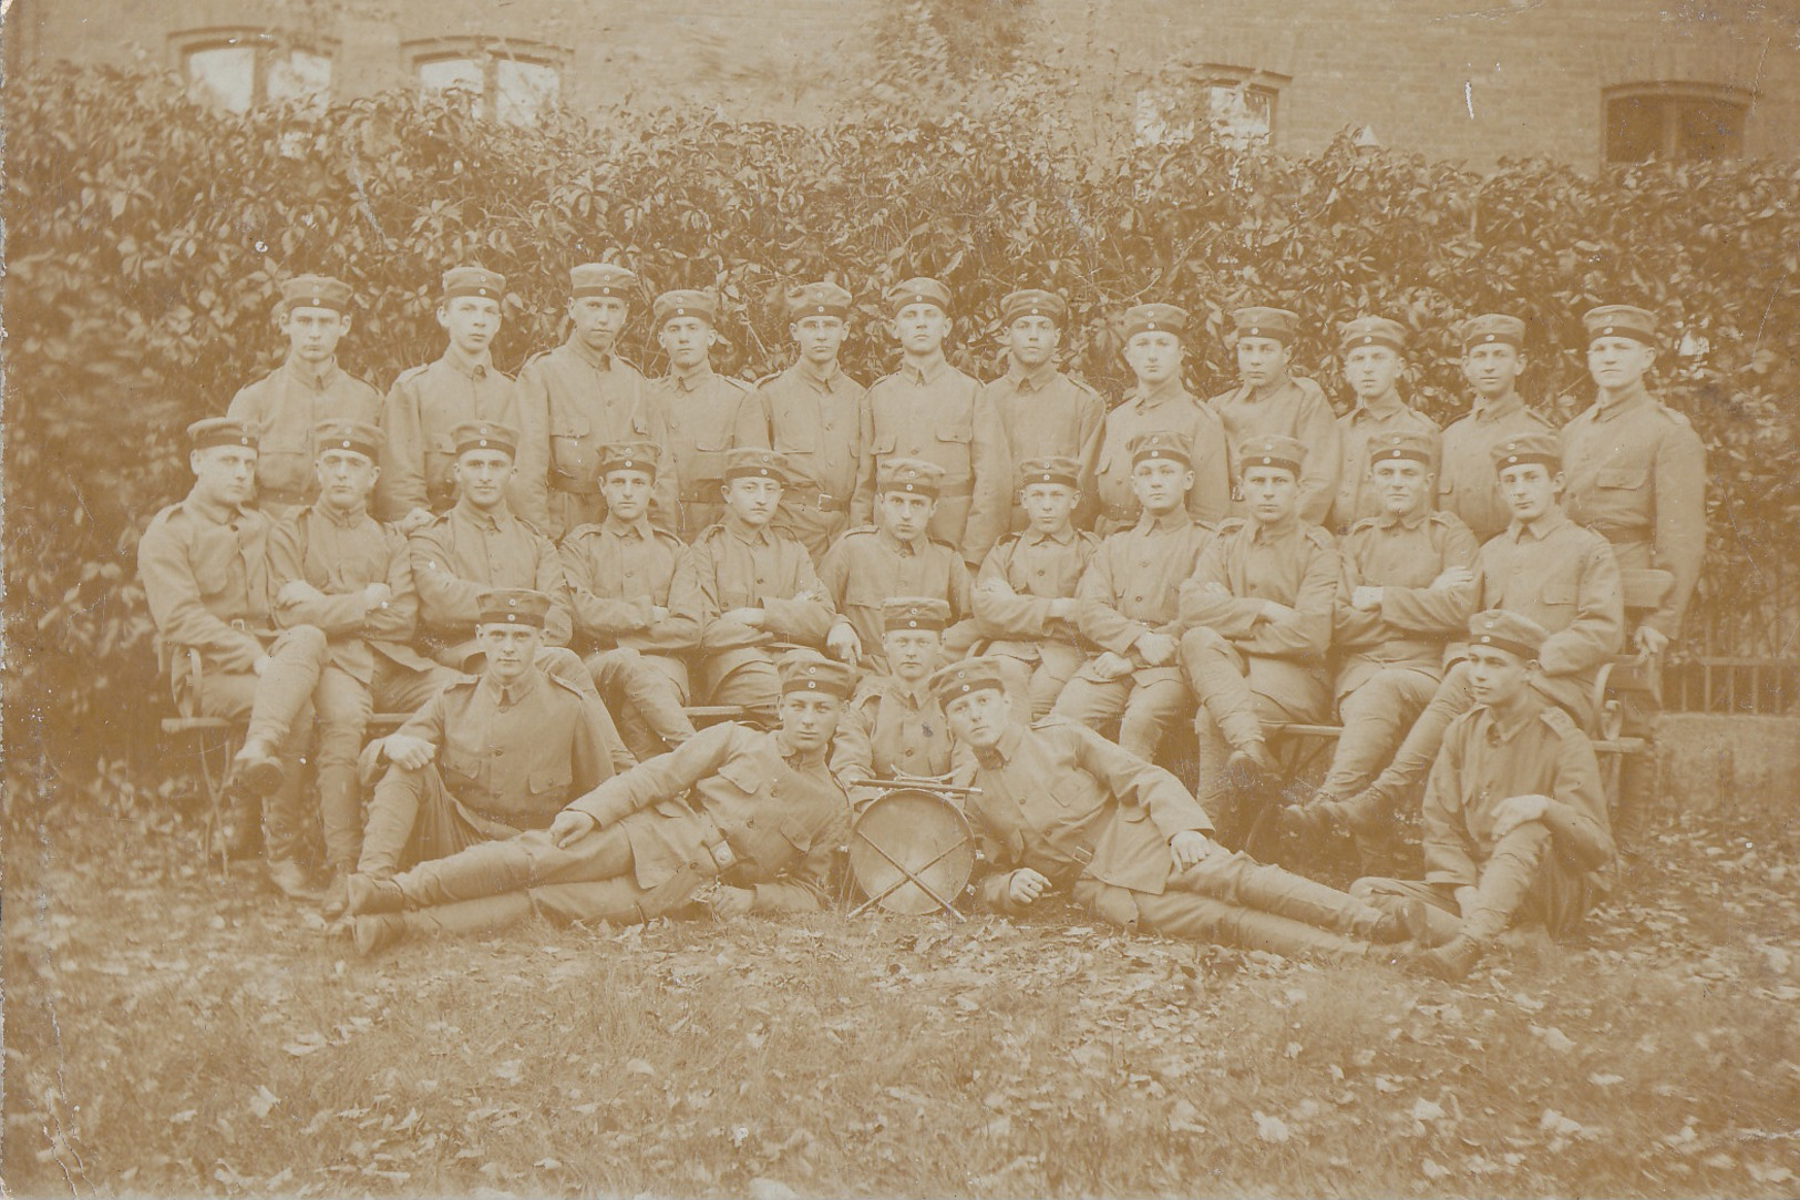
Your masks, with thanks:
<instances>
[{"instance_id":1,"label":"man reclining on the grass left of the drum, legs stretched left","mask_svg":"<svg viewBox=\"0 0 1800 1200\"><path fill-rule=\"evenodd\" d=\"M356 948L554 921L817 912L848 805L826 769L853 674L810 650L781 661L781 728L715 724L574 798L549 829L421 863L351 894Z\"/></svg>"}]
</instances>

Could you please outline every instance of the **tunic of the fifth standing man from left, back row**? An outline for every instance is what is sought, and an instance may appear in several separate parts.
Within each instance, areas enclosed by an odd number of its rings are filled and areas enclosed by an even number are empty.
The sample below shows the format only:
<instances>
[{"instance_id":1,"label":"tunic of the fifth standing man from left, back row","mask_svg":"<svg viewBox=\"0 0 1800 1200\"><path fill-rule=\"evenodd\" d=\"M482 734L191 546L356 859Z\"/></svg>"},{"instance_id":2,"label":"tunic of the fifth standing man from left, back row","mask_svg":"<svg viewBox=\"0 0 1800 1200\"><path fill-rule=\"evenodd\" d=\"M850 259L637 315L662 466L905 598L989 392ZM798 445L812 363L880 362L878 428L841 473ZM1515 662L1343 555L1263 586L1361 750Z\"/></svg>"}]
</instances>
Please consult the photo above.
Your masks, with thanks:
<instances>
[{"instance_id":1,"label":"tunic of the fifth standing man from left, back row","mask_svg":"<svg viewBox=\"0 0 1800 1200\"><path fill-rule=\"evenodd\" d=\"M774 526L806 548L814 562L850 524L850 497L862 459L862 393L832 366L819 377L801 360L756 386L738 405L734 445L778 450L787 486Z\"/></svg>"}]
</instances>

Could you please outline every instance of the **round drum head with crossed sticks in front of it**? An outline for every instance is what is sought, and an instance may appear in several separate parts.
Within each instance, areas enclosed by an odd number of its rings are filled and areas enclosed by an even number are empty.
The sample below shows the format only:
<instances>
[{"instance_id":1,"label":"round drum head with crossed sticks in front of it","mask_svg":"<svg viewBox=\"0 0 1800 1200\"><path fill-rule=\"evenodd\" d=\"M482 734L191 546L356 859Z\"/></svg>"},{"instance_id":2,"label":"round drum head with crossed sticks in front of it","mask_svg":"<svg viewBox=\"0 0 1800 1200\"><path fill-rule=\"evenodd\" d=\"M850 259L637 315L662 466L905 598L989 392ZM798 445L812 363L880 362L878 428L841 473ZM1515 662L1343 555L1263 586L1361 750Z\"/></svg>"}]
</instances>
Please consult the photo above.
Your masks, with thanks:
<instances>
[{"instance_id":1,"label":"round drum head with crossed sticks in front of it","mask_svg":"<svg viewBox=\"0 0 1800 1200\"><path fill-rule=\"evenodd\" d=\"M887 912L938 912L931 892L954 905L974 868L976 840L968 820L929 791L889 791L873 800L850 836L850 870L857 886L864 895L878 895L875 903Z\"/></svg>"}]
</instances>

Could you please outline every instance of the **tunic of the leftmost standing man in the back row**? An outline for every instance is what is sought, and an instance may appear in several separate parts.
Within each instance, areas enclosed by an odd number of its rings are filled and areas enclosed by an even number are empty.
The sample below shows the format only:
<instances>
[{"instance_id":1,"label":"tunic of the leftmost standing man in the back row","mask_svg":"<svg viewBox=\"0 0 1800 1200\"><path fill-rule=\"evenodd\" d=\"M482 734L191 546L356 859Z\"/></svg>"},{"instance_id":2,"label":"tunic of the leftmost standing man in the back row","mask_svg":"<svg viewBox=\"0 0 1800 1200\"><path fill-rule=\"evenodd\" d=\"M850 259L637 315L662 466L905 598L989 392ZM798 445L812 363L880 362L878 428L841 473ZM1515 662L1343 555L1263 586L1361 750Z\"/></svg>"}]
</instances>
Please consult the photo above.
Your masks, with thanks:
<instances>
[{"instance_id":1,"label":"tunic of the leftmost standing man in the back row","mask_svg":"<svg viewBox=\"0 0 1800 1200\"><path fill-rule=\"evenodd\" d=\"M335 362L315 371L293 359L239 387L225 409L257 438L256 499L277 519L319 497L313 427L326 420L374 425L380 414L382 393L364 380Z\"/></svg>"}]
</instances>

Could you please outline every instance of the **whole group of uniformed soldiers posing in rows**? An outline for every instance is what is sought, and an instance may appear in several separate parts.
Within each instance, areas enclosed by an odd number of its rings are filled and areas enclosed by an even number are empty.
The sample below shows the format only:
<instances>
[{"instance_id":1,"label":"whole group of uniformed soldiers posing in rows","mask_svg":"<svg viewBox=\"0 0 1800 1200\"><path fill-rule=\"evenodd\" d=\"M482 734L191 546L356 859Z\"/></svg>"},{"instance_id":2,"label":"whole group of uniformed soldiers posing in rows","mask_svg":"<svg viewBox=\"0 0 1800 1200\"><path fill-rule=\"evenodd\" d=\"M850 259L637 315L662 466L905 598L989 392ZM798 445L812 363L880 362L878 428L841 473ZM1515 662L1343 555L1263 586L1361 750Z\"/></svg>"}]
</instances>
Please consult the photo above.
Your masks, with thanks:
<instances>
[{"instance_id":1,"label":"whole group of uniformed soldiers posing in rows","mask_svg":"<svg viewBox=\"0 0 1800 1200\"><path fill-rule=\"evenodd\" d=\"M909 778L967 796L999 912L1066 892L1283 953L1409 942L1451 978L1516 919L1580 919L1613 854L1593 681L1667 647L1705 546L1651 314L1586 314L1598 393L1562 431L1517 393L1525 323L1469 319L1474 404L1440 432L1384 317L1343 326L1336 416L1292 312L1238 310L1240 382L1202 402L1186 314L1138 305L1109 409L1058 369L1046 290L1003 299L983 384L945 359L949 288L895 285L900 366L862 387L833 283L787 294L797 355L756 386L711 369L709 294L655 299L650 382L614 350L637 277L569 283L567 342L515 380L506 281L446 272L445 353L383 398L337 366L351 288L292 279L286 360L189 429L194 486L140 542L176 697L248 721L227 793L270 879L358 948L817 908L871 787ZM1674 580L1631 629L1622 568ZM371 741L376 712L412 715ZM1334 717L1321 789L1276 813L1354 836L1350 892L1240 850L1282 804L1271 730ZM1190 730L1192 791L1156 766ZM1426 879L1382 877L1420 784Z\"/></svg>"}]
</instances>

